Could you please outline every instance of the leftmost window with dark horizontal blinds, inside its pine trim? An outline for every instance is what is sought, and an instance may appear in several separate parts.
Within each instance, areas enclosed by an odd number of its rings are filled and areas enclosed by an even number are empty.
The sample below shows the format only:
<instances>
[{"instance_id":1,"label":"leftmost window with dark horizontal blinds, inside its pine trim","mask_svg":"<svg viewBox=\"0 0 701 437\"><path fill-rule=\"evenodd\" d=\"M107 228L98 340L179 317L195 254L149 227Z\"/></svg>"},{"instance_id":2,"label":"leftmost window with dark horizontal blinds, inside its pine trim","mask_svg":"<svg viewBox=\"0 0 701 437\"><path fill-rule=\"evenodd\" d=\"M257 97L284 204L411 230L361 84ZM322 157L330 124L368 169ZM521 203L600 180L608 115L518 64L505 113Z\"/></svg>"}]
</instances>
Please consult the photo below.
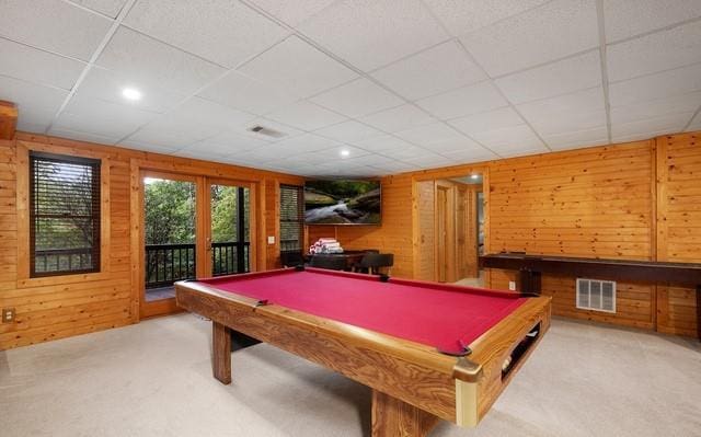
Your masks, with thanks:
<instances>
[{"instance_id":1,"label":"leftmost window with dark horizontal blinds, inside its pine trim","mask_svg":"<svg viewBox=\"0 0 701 437\"><path fill-rule=\"evenodd\" d=\"M30 154L30 275L100 271L100 161Z\"/></svg>"}]
</instances>

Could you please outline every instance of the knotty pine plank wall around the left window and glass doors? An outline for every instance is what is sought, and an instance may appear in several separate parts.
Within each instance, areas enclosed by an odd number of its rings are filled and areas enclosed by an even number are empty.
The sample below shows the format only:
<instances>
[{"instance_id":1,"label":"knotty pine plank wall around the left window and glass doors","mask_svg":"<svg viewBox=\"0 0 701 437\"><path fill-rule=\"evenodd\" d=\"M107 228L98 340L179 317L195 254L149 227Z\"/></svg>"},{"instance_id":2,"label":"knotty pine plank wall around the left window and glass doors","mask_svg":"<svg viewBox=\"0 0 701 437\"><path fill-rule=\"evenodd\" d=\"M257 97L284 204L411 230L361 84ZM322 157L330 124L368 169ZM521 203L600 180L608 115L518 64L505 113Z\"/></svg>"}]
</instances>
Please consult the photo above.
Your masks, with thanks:
<instances>
[{"instance_id":1,"label":"knotty pine plank wall around the left window and glass doors","mask_svg":"<svg viewBox=\"0 0 701 437\"><path fill-rule=\"evenodd\" d=\"M101 157L108 162L110 214L103 219L110 229L108 262L99 276L73 275L42 279L24 279L19 274L18 251L26 250L18 238L18 147L41 148L55 153L77 153ZM54 137L18 134L15 140L0 141L0 308L14 308L14 323L0 324L0 349L61 338L138 321L138 287L130 276L133 263L130 223L131 162L169 169L180 173L208 174L256 182L263 196L256 210L264 223L260 226L258 243L266 235L279 240L276 219L278 184L302 184L298 176L253 169L216 164L205 161L138 152ZM26 170L24 170L26 171ZM205 173L207 172L207 173ZM138 177L138 175L137 175ZM18 196L19 195L19 196ZM258 246L264 253L258 268L272 268L278 263L276 245ZM138 248L137 252L138 253ZM261 265L263 264L263 265Z\"/></svg>"}]
</instances>

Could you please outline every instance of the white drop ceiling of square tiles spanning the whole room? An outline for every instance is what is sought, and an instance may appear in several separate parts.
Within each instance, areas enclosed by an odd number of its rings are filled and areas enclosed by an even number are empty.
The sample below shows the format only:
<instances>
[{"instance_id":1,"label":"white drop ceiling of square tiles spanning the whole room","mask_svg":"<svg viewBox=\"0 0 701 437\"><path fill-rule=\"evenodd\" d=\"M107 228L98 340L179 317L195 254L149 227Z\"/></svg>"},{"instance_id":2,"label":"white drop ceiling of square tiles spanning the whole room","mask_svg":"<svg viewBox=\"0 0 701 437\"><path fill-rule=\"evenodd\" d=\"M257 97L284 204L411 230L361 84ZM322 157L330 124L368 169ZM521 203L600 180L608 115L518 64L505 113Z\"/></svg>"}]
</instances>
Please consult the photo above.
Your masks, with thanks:
<instances>
[{"instance_id":1,"label":"white drop ceiling of square tiles spanning the whole room","mask_svg":"<svg viewBox=\"0 0 701 437\"><path fill-rule=\"evenodd\" d=\"M5 0L0 100L21 130L307 176L629 141L701 129L701 1Z\"/></svg>"}]
</instances>

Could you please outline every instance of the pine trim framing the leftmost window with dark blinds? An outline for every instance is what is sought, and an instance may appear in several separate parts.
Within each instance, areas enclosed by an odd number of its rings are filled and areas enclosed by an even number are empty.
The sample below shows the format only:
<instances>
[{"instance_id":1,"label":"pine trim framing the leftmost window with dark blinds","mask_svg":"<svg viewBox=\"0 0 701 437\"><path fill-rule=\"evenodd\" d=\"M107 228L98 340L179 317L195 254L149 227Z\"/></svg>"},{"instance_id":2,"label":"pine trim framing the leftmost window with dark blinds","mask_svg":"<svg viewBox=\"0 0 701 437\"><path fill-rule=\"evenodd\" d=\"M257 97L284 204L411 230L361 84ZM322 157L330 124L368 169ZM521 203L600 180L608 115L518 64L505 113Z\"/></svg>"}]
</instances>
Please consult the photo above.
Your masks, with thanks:
<instances>
[{"instance_id":1,"label":"pine trim framing the leftmost window with dark blinds","mask_svg":"<svg viewBox=\"0 0 701 437\"><path fill-rule=\"evenodd\" d=\"M18 271L16 287L31 288L50 285L104 280L110 277L111 260L111 212L110 212L110 158L106 152L97 152L79 147L16 141L16 223L18 223ZM30 223L30 152L58 154L71 158L100 160L100 271L94 273L61 273L51 276L31 276L31 223Z\"/></svg>"}]
</instances>

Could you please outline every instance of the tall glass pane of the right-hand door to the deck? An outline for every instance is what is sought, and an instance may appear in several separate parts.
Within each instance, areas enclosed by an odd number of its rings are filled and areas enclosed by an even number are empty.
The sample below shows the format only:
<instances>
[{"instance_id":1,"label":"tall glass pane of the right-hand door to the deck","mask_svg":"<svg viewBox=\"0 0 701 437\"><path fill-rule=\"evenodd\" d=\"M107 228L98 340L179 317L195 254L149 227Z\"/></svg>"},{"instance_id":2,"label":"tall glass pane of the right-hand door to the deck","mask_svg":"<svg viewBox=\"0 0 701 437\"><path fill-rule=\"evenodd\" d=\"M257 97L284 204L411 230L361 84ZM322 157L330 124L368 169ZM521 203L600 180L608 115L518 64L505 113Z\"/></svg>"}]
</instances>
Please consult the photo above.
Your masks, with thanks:
<instances>
[{"instance_id":1,"label":"tall glass pane of the right-hand door to the deck","mask_svg":"<svg viewBox=\"0 0 701 437\"><path fill-rule=\"evenodd\" d=\"M209 262L211 276L251 269L250 188L228 183L209 185Z\"/></svg>"}]
</instances>

